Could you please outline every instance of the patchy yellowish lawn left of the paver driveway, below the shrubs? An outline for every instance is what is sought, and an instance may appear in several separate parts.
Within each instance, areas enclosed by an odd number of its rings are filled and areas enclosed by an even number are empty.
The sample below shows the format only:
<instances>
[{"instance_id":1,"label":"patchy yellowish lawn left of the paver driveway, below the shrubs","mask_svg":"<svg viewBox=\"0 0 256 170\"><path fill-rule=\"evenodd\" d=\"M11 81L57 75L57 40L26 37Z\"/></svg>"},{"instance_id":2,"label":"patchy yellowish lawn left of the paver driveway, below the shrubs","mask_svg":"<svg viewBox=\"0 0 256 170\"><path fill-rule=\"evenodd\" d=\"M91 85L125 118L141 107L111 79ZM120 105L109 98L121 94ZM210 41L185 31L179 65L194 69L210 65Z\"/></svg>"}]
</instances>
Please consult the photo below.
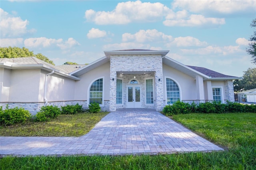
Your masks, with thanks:
<instances>
[{"instance_id":1,"label":"patchy yellowish lawn left of the paver driveway, below the shrubs","mask_svg":"<svg viewBox=\"0 0 256 170\"><path fill-rule=\"evenodd\" d=\"M0 127L0 136L82 136L109 112L59 115L49 122Z\"/></svg>"}]
</instances>

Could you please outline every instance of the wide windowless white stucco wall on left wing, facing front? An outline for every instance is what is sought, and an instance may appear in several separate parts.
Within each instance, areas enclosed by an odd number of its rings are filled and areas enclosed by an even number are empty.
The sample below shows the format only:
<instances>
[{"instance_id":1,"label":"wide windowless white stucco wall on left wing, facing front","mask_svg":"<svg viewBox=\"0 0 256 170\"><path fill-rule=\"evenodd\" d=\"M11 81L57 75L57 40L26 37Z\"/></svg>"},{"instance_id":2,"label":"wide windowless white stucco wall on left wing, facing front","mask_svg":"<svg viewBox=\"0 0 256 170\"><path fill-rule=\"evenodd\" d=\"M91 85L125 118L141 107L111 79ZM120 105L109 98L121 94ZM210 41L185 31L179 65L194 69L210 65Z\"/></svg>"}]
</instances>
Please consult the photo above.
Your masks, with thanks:
<instances>
[{"instance_id":1,"label":"wide windowless white stucco wall on left wing, facing front","mask_svg":"<svg viewBox=\"0 0 256 170\"><path fill-rule=\"evenodd\" d=\"M8 102L38 102L40 69L12 70Z\"/></svg>"}]
</instances>

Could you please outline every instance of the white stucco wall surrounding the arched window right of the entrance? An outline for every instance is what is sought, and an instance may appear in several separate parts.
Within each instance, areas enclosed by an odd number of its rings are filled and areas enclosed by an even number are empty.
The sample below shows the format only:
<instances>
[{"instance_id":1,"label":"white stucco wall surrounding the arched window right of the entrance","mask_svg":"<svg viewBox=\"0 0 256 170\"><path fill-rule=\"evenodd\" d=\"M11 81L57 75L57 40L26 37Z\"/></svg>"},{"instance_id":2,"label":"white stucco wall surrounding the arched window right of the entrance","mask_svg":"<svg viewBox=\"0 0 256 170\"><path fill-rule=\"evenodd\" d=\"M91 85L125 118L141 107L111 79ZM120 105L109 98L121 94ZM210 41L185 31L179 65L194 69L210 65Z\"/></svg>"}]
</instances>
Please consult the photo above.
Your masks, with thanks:
<instances>
[{"instance_id":1,"label":"white stucco wall surrounding the arched window right of the entrance","mask_svg":"<svg viewBox=\"0 0 256 170\"><path fill-rule=\"evenodd\" d=\"M182 101L195 101L197 99L195 78L163 64L164 100L166 100L166 78L174 80L178 86L180 86L179 88Z\"/></svg>"}]
</instances>

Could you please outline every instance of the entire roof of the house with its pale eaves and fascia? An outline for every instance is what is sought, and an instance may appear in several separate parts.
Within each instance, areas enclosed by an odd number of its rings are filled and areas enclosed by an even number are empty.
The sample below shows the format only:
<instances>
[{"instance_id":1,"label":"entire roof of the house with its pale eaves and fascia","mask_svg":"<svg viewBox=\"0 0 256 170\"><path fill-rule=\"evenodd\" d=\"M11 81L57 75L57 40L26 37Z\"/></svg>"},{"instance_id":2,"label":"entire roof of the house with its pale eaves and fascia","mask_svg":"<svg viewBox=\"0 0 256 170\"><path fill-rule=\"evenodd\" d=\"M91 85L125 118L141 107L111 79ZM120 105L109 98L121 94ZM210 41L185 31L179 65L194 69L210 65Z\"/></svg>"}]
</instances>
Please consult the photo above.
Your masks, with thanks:
<instances>
[{"instance_id":1,"label":"entire roof of the house with its pale eaves and fascia","mask_svg":"<svg viewBox=\"0 0 256 170\"><path fill-rule=\"evenodd\" d=\"M12 69L33 69L41 67L48 71L54 70L56 74L60 74L75 80L80 80L79 76L100 67L101 65L110 62L110 55L161 55L162 62L182 73L185 73L191 77L196 78L196 75L200 75L204 80L235 80L242 79L242 77L235 77L231 75L224 75L204 67L196 67L190 65L184 65L170 57L166 54L169 51L160 50L148 50L148 49L125 49L125 50L115 50L115 51L104 51L104 57L88 64L88 65L59 65L54 66L50 63L46 63L36 57L22 57L22 58L3 58L0 59L0 67L11 67Z\"/></svg>"}]
</instances>

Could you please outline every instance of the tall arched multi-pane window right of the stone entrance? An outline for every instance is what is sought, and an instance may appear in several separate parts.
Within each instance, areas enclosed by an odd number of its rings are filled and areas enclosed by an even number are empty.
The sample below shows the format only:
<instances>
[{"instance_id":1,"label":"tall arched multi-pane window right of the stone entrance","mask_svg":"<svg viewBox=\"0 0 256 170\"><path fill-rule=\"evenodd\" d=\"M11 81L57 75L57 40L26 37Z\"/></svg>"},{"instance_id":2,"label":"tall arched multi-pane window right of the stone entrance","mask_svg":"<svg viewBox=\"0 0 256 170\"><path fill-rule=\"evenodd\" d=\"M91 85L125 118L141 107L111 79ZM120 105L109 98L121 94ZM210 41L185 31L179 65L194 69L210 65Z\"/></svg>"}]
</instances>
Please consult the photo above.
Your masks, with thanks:
<instances>
[{"instance_id":1,"label":"tall arched multi-pane window right of the stone entrance","mask_svg":"<svg viewBox=\"0 0 256 170\"><path fill-rule=\"evenodd\" d=\"M175 103L180 100L180 90L172 79L166 79L167 104Z\"/></svg>"}]
</instances>

